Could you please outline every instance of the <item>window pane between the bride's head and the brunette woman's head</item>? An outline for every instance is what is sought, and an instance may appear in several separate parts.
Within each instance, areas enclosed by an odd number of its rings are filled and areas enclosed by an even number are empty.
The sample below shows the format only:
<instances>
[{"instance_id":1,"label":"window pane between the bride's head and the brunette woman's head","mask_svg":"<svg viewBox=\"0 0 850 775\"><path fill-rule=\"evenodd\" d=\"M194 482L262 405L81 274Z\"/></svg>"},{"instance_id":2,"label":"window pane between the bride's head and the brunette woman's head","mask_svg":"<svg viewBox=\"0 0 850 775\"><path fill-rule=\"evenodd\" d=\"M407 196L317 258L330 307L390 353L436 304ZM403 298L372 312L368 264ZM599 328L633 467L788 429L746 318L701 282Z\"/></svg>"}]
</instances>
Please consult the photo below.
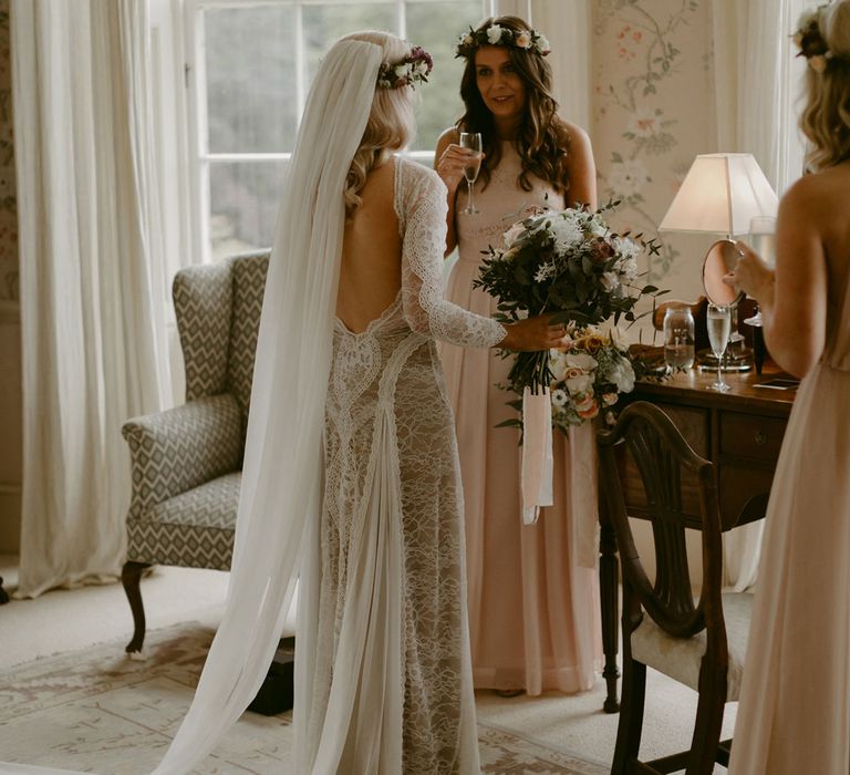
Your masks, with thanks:
<instances>
[{"instance_id":1,"label":"window pane between the bride's head and the brunette woman's head","mask_svg":"<svg viewBox=\"0 0 850 775\"><path fill-rule=\"evenodd\" d=\"M481 21L481 0L407 2L407 37L434 56L434 71L419 91L416 151L433 151L437 137L463 113L460 74L464 60L455 59L458 35Z\"/></svg>"}]
</instances>

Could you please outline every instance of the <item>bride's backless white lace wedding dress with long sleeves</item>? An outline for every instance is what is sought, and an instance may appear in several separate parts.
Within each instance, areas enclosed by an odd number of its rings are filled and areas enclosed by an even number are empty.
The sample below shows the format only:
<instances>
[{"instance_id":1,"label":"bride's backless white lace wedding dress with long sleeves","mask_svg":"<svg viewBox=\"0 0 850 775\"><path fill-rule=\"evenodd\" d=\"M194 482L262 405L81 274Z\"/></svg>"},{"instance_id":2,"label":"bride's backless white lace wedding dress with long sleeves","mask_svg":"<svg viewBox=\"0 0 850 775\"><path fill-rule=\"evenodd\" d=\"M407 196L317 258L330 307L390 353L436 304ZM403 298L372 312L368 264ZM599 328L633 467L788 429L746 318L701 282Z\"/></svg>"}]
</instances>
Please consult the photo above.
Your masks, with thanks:
<instances>
[{"instance_id":1,"label":"bride's backless white lace wedding dress with long sleeves","mask_svg":"<svg viewBox=\"0 0 850 775\"><path fill-rule=\"evenodd\" d=\"M491 347L505 329L444 300L445 188L393 163L402 288L365 331L338 320L333 334L324 503L299 600L298 772L478 772L463 497L435 339Z\"/></svg>"}]
</instances>

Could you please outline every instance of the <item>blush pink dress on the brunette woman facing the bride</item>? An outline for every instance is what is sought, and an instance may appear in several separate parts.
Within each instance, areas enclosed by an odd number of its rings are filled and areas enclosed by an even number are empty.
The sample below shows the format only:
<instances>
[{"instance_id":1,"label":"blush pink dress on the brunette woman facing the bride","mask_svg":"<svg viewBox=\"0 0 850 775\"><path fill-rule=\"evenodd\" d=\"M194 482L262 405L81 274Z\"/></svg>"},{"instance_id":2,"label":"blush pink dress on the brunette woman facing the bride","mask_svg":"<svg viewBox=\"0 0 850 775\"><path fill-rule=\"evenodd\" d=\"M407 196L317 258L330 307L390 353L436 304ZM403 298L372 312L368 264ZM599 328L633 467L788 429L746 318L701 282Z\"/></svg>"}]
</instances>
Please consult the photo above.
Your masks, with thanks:
<instances>
[{"instance_id":1,"label":"blush pink dress on the brunette woman facing the bride","mask_svg":"<svg viewBox=\"0 0 850 775\"><path fill-rule=\"evenodd\" d=\"M504 143L502 157L485 188L475 184L477 215L457 197L459 257L447 283L449 301L490 316L496 301L473 289L489 245L531 208L560 209L562 195L530 176L517 180L519 155ZM478 689L581 692L601 663L597 545L597 462L593 431L559 431L554 442L554 505L524 526L519 432L496 425L516 416L500 390L511 361L497 351L440 347L455 412L466 514L466 552L473 679Z\"/></svg>"}]
</instances>

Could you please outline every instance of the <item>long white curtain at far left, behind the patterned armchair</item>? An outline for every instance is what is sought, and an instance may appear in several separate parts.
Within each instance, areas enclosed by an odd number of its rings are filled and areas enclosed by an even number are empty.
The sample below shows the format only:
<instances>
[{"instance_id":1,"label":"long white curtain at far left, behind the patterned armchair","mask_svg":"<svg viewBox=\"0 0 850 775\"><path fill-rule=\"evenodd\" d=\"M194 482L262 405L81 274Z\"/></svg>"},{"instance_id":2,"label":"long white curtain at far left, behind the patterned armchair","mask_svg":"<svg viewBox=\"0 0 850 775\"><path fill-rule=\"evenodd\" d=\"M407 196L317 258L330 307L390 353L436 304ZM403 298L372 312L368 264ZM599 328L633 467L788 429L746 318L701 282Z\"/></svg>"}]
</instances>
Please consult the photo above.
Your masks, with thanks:
<instances>
[{"instance_id":1,"label":"long white curtain at far left, behind the patterned armchair","mask_svg":"<svg viewBox=\"0 0 850 775\"><path fill-rule=\"evenodd\" d=\"M168 400L147 2L12 0L24 478L19 597L114 577L132 415ZM154 277L159 277L158 283ZM156 287L155 287L156 286Z\"/></svg>"}]
</instances>

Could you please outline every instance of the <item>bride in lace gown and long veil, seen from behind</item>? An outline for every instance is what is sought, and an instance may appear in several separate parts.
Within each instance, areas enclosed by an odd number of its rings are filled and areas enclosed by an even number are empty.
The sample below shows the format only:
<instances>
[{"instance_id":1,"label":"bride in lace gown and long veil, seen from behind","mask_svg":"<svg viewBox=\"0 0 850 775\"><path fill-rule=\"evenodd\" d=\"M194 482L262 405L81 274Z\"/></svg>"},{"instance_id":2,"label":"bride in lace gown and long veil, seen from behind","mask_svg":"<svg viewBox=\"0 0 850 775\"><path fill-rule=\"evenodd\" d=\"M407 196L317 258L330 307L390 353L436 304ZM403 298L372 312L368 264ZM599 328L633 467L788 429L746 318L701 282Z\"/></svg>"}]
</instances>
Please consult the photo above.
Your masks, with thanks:
<instances>
[{"instance_id":1,"label":"bride in lace gown and long veil, seen from behind","mask_svg":"<svg viewBox=\"0 0 850 775\"><path fill-rule=\"evenodd\" d=\"M155 775L190 772L243 712L297 578L296 772L479 771L435 340L541 350L562 327L443 299L445 187L392 155L429 70L422 49L363 32L317 74L266 286L227 611Z\"/></svg>"}]
</instances>

